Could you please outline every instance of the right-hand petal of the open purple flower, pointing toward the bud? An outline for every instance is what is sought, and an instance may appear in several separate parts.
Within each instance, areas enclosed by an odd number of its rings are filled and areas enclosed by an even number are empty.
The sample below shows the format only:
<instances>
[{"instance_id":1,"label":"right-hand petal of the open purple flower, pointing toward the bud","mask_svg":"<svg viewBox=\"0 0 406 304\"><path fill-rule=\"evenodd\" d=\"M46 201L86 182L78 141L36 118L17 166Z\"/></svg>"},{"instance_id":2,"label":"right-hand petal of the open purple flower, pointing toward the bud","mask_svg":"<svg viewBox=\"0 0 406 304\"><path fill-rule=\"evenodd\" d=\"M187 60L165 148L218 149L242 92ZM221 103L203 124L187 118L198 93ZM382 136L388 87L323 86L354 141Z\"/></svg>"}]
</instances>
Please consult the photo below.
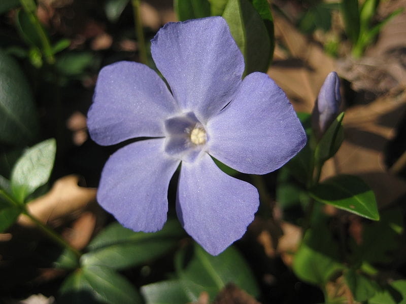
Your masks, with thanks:
<instances>
[{"instance_id":1,"label":"right-hand petal of the open purple flower, pointing toward the bud","mask_svg":"<svg viewBox=\"0 0 406 304\"><path fill-rule=\"evenodd\" d=\"M209 154L243 173L283 166L306 144L285 93L267 74L249 74L235 98L207 124Z\"/></svg>"}]
</instances>

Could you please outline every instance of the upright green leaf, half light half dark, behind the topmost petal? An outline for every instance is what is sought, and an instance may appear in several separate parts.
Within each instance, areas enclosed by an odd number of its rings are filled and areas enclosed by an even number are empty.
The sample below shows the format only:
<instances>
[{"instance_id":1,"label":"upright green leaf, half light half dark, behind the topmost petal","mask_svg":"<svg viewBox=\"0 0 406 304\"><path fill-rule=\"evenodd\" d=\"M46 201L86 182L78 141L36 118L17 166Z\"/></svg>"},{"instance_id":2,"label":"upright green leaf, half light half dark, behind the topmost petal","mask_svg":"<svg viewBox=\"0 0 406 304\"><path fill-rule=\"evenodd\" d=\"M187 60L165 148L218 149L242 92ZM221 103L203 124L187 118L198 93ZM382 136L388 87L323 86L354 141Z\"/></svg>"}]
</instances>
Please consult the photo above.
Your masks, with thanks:
<instances>
[{"instance_id":1,"label":"upright green leaf, half light half dark, behind the topmost petal","mask_svg":"<svg viewBox=\"0 0 406 304\"><path fill-rule=\"evenodd\" d=\"M223 18L244 55L244 74L266 72L272 57L271 37L252 4L248 0L229 0Z\"/></svg>"}]
</instances>

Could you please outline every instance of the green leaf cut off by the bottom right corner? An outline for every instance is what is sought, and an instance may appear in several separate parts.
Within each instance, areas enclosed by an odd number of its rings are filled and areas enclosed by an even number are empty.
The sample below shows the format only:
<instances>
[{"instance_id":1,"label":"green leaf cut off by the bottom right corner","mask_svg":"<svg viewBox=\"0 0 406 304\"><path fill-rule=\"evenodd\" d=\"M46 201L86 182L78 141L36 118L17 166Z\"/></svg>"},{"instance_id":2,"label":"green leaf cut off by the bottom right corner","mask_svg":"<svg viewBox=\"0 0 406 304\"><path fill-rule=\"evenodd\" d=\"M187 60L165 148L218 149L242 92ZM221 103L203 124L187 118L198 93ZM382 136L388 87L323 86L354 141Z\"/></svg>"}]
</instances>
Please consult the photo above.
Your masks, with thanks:
<instances>
[{"instance_id":1,"label":"green leaf cut off by the bottom right corner","mask_svg":"<svg viewBox=\"0 0 406 304\"><path fill-rule=\"evenodd\" d=\"M368 304L406 304L406 280L397 280L377 292Z\"/></svg>"}]
</instances>

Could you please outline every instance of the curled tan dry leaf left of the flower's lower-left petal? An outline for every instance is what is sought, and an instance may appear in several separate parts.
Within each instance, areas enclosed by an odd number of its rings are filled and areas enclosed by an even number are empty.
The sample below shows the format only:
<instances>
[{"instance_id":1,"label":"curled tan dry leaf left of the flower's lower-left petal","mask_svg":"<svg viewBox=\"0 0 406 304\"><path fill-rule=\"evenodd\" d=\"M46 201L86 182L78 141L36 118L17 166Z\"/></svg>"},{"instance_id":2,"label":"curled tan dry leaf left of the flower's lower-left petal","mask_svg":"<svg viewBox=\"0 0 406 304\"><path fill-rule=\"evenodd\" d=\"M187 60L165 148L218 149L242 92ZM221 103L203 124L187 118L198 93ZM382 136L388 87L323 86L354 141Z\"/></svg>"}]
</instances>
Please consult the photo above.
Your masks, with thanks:
<instances>
[{"instance_id":1,"label":"curled tan dry leaf left of the flower's lower-left petal","mask_svg":"<svg viewBox=\"0 0 406 304\"><path fill-rule=\"evenodd\" d=\"M58 179L51 190L42 197L28 203L28 211L43 223L59 220L82 210L96 199L96 188L80 187L79 177L67 175ZM34 225L29 218L21 215L21 225Z\"/></svg>"}]
</instances>

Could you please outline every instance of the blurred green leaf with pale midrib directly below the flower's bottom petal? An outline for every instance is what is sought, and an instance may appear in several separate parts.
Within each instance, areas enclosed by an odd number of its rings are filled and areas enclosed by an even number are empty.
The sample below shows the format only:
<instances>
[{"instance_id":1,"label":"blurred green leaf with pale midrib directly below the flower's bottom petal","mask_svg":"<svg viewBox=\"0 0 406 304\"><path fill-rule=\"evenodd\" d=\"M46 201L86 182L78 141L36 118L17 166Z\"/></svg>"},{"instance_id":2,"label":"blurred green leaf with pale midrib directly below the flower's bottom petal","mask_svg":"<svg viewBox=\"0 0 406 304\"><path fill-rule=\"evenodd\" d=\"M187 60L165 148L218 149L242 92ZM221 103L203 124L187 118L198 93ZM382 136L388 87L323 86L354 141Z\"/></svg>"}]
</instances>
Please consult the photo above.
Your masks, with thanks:
<instances>
[{"instance_id":1,"label":"blurred green leaf with pale midrib directly below the flower's bottom petal","mask_svg":"<svg viewBox=\"0 0 406 304\"><path fill-rule=\"evenodd\" d=\"M185 293L190 301L196 301L202 291L207 291L210 299L227 283L234 283L253 296L259 290L255 278L244 258L234 248L228 247L217 256L212 256L195 244L194 255L183 268L185 252L180 251L176 257L176 268Z\"/></svg>"}]
</instances>

